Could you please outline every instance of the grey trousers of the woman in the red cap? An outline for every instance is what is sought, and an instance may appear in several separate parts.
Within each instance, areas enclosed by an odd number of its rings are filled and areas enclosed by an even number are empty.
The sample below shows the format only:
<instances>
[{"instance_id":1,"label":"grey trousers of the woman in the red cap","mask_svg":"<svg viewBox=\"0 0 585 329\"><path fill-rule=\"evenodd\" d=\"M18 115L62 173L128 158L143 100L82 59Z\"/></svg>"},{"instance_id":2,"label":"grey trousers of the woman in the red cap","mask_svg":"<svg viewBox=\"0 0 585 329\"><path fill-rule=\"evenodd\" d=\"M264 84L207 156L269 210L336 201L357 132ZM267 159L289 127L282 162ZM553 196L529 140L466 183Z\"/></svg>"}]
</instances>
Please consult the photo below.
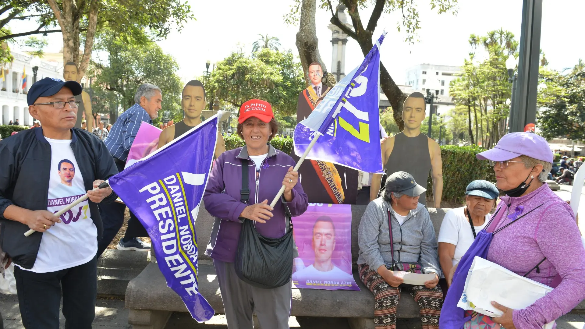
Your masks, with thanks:
<instances>
[{"instance_id":1,"label":"grey trousers of the woman in the red cap","mask_svg":"<svg viewBox=\"0 0 585 329\"><path fill-rule=\"evenodd\" d=\"M249 285L236 275L233 263L214 259L228 329L253 329L252 313L263 329L289 329L291 283L274 289Z\"/></svg>"}]
</instances>

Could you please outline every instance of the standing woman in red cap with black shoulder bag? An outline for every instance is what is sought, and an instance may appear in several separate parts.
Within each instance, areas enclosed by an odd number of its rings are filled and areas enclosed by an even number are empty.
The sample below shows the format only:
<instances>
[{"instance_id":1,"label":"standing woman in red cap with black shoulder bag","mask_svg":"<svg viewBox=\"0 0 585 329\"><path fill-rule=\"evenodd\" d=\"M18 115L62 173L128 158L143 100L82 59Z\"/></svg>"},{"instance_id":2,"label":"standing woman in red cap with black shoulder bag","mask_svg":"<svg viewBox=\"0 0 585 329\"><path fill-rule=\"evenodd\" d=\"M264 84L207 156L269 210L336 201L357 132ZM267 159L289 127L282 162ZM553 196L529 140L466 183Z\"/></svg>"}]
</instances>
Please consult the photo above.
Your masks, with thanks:
<instances>
[{"instance_id":1,"label":"standing woman in red cap with black shoulder bag","mask_svg":"<svg viewBox=\"0 0 585 329\"><path fill-rule=\"evenodd\" d=\"M256 231L264 237L283 237L288 228L287 213L292 217L304 213L307 194L297 184L292 158L269 143L278 131L270 104L263 100L245 102L238 122L237 133L246 145L218 157L205 190L205 208L216 217L205 255L214 259L229 329L253 328L252 313L263 328L288 329L290 280L273 289L250 285L236 275L234 261L245 218L254 221ZM242 201L242 165L249 166L247 203ZM269 200L283 185L283 197L271 208Z\"/></svg>"}]
</instances>

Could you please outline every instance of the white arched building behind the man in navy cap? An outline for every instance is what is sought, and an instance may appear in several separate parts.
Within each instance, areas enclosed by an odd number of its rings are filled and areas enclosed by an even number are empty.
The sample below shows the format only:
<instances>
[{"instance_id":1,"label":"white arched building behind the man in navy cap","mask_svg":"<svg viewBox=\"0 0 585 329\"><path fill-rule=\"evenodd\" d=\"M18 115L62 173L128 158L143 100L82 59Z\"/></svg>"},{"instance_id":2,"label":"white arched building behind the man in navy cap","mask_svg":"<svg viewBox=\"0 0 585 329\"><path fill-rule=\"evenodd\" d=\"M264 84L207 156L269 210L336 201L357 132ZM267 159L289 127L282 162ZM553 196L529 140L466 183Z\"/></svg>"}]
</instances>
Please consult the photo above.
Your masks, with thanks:
<instances>
[{"instance_id":1,"label":"white arched building behind the man in navy cap","mask_svg":"<svg viewBox=\"0 0 585 329\"><path fill-rule=\"evenodd\" d=\"M12 52L14 61L4 68L4 81L0 90L0 105L2 112L0 124L8 125L10 121L15 122L18 119L20 125L32 126L33 117L29 114L29 107L26 102L26 94L30 85L33 84L33 61L32 56L27 56ZM59 73L57 66L46 61L38 61L37 80L44 77L61 78L63 74ZM26 73L26 87L22 88L22 73Z\"/></svg>"}]
</instances>

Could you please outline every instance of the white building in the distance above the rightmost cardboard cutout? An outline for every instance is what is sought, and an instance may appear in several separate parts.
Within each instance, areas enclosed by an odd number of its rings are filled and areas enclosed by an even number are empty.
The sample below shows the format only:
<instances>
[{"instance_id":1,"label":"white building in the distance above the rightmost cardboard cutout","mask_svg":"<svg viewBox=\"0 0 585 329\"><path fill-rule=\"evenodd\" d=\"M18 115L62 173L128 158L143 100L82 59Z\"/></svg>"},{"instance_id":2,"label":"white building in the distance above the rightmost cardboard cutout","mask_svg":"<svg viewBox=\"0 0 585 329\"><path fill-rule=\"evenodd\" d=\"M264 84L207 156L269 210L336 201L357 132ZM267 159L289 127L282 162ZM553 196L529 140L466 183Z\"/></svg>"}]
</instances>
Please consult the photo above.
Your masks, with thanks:
<instances>
[{"instance_id":1,"label":"white building in the distance above the rightmost cardboard cutout","mask_svg":"<svg viewBox=\"0 0 585 329\"><path fill-rule=\"evenodd\" d=\"M407 68L406 85L412 86L412 90L422 92L426 96L429 89L433 95L438 90L437 98L433 101L436 114L445 114L451 108L455 108L452 97L449 94L449 84L461 73L459 66L418 64Z\"/></svg>"}]
</instances>

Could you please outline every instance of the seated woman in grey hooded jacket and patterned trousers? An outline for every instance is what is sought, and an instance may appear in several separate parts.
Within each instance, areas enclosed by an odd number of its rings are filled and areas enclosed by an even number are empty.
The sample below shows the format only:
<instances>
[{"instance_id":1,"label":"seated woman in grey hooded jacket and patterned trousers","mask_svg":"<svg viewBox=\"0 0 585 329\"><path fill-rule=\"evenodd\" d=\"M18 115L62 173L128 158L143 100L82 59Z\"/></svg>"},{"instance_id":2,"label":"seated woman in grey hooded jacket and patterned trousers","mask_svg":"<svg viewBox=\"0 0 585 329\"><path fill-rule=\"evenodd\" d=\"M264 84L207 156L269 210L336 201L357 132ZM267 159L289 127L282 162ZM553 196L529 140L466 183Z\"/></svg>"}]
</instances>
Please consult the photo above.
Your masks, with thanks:
<instances>
[{"instance_id":1,"label":"seated woman in grey hooded jacket and patterned trousers","mask_svg":"<svg viewBox=\"0 0 585 329\"><path fill-rule=\"evenodd\" d=\"M368 204L357 234L360 279L374 294L374 327L396 323L400 291L407 290L420 307L425 328L439 328L443 293L437 286L441 269L435 229L425 206L418 202L426 189L411 174L388 176L383 196ZM396 271L434 273L420 286L405 285ZM398 274L398 273L396 273Z\"/></svg>"}]
</instances>

